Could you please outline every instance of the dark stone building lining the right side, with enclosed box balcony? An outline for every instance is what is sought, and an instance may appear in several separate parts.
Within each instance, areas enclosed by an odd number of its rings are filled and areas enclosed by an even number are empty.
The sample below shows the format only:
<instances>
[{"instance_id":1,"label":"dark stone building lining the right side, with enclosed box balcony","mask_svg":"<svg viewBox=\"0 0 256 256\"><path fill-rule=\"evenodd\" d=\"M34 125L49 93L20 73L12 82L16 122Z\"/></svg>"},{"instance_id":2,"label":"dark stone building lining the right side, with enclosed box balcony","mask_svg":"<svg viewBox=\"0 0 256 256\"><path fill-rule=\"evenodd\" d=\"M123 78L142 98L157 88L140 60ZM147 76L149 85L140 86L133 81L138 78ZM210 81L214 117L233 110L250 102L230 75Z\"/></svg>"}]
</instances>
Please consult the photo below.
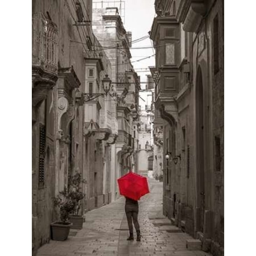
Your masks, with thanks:
<instances>
[{"instance_id":1,"label":"dark stone building lining the right side, with enclosed box balcony","mask_svg":"<svg viewBox=\"0 0 256 256\"><path fill-rule=\"evenodd\" d=\"M223 9L222 0L156 0L150 32L163 212L214 255L224 252Z\"/></svg>"}]
</instances>

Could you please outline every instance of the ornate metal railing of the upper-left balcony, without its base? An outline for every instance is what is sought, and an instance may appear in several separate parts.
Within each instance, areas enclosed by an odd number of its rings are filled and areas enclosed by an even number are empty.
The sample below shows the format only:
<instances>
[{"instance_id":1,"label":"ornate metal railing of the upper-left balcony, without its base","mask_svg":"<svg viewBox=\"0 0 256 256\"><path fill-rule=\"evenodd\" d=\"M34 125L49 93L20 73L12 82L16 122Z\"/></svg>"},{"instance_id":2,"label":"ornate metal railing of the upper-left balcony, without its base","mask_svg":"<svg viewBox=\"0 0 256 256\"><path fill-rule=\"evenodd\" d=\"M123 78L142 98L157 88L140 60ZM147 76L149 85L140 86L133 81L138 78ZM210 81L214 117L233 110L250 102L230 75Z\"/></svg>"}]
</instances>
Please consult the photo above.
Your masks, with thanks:
<instances>
[{"instance_id":1,"label":"ornate metal railing of the upper-left balcony, without its base","mask_svg":"<svg viewBox=\"0 0 256 256\"><path fill-rule=\"evenodd\" d=\"M42 13L32 15L32 65L55 73L58 68L57 25Z\"/></svg>"}]
</instances>

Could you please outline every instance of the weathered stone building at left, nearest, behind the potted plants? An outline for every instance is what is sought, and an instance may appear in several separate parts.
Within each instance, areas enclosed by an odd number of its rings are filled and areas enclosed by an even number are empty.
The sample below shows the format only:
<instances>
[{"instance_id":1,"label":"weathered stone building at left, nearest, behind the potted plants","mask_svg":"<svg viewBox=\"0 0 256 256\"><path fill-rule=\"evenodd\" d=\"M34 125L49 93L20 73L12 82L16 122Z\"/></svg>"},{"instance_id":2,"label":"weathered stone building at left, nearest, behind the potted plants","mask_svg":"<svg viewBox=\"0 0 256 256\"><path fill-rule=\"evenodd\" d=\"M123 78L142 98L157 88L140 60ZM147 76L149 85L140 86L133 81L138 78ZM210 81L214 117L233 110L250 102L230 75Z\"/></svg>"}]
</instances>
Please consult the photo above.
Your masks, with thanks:
<instances>
[{"instance_id":1,"label":"weathered stone building at left, nearest, behind the potted plants","mask_svg":"<svg viewBox=\"0 0 256 256\"><path fill-rule=\"evenodd\" d=\"M53 198L69 174L80 172L87 182L81 214L111 201L116 100L103 90L111 63L84 26L91 20L91 0L32 1L33 255L50 240L58 219Z\"/></svg>"}]
</instances>

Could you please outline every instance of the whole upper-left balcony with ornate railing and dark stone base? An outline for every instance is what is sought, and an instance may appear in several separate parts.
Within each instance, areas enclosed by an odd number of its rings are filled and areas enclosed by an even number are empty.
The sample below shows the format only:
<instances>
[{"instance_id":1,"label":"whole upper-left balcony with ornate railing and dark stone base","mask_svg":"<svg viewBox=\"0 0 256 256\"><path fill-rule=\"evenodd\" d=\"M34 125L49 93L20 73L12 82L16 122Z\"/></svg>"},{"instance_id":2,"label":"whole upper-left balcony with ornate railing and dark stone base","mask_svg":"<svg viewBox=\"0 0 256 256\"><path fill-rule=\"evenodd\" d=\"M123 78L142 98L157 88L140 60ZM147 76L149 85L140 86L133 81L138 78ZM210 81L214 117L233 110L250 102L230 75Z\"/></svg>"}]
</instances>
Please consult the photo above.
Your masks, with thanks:
<instances>
[{"instance_id":1,"label":"whole upper-left balcony with ornate railing and dark stone base","mask_svg":"<svg viewBox=\"0 0 256 256\"><path fill-rule=\"evenodd\" d=\"M58 79L58 29L42 13L32 15L32 106L38 106Z\"/></svg>"}]
</instances>

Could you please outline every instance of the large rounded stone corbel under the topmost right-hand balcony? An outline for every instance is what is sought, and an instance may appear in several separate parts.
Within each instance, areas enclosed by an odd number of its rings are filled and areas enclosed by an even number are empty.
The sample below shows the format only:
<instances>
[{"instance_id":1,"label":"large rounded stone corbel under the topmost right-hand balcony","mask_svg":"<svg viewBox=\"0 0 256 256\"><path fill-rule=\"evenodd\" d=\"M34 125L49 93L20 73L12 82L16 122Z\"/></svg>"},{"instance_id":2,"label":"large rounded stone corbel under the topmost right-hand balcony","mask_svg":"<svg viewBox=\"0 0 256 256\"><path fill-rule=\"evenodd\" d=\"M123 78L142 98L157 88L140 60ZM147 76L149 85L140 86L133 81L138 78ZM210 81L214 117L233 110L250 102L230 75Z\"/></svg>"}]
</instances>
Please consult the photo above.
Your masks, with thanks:
<instances>
[{"instance_id":1,"label":"large rounded stone corbel under the topmost right-hand balcony","mask_svg":"<svg viewBox=\"0 0 256 256\"><path fill-rule=\"evenodd\" d=\"M206 6L203 1L192 1L183 23L183 30L197 32L205 13Z\"/></svg>"}]
</instances>

